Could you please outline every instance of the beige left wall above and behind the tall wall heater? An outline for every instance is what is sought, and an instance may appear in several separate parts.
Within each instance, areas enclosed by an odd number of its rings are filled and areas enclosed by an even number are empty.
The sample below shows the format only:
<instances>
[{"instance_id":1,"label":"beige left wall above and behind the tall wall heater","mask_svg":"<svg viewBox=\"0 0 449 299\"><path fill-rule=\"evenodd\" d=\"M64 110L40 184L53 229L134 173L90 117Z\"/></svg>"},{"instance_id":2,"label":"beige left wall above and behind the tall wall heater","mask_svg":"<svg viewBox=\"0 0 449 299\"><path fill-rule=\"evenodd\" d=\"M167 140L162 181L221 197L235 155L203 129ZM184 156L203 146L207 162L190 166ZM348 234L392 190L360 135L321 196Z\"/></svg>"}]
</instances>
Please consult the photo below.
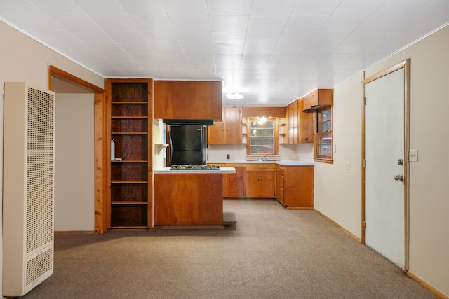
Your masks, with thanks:
<instances>
[{"instance_id":1,"label":"beige left wall above and behind the tall wall heater","mask_svg":"<svg viewBox=\"0 0 449 299\"><path fill-rule=\"evenodd\" d=\"M83 80L93 83L100 88L104 87L104 78L94 74L92 71L81 67L79 64L68 60L55 51L47 48L30 39L25 34L6 25L0 21L0 39L4 41L0 47L0 86L3 87L4 82L19 81L27 82L39 88L48 88L48 65L54 65L60 69L68 71L70 74L83 78ZM1 88L3 90L3 88ZM2 102L3 103L3 102ZM3 132L3 104L0 105L0 132ZM0 138L0 168L3 169L3 138ZM8 157L5 157L8 158ZM1 176L1 174L0 174ZM0 184L0 196L1 192ZM1 211L0 199L0 211ZM0 269L3 268L3 248L2 235L3 220L0 213ZM3 281L2 271L0 271L0 281ZM3 293L3 287L0 282L0 293Z\"/></svg>"}]
</instances>

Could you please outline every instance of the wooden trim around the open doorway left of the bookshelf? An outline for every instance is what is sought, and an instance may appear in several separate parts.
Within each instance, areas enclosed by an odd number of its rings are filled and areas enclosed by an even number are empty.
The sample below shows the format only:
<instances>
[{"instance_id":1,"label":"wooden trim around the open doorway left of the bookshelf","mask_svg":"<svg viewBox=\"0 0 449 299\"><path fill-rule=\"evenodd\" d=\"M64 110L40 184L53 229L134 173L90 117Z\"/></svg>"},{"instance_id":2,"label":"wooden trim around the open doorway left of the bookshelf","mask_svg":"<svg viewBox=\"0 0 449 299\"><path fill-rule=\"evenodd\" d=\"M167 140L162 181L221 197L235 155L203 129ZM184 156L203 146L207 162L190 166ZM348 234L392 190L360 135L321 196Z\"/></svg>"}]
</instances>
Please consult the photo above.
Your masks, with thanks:
<instances>
[{"instance_id":1,"label":"wooden trim around the open doorway left of the bookshelf","mask_svg":"<svg viewBox=\"0 0 449 299\"><path fill-rule=\"evenodd\" d=\"M56 74L69 81L89 88L94 94L94 172L95 172L95 203L94 203L94 230L95 233L106 232L106 105L105 90L88 81L58 69L53 65L48 66L48 90L51 90L51 75Z\"/></svg>"}]
</instances>

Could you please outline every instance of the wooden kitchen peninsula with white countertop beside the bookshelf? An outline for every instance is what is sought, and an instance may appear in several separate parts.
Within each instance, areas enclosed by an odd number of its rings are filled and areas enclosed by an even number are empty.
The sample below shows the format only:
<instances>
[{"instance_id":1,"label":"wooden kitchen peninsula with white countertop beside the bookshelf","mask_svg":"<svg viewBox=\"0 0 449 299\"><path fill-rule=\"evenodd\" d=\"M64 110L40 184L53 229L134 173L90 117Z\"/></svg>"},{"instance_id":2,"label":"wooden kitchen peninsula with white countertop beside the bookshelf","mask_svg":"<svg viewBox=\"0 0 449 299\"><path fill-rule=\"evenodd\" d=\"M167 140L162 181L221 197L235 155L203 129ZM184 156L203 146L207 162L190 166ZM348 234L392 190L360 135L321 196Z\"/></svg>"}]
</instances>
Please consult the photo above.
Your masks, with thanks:
<instances>
[{"instance_id":1,"label":"wooden kitchen peninsula with white countertop beside the bookshelf","mask_svg":"<svg viewBox=\"0 0 449 299\"><path fill-rule=\"evenodd\" d=\"M212 170L154 170L155 225L223 225L223 174Z\"/></svg>"}]
</instances>

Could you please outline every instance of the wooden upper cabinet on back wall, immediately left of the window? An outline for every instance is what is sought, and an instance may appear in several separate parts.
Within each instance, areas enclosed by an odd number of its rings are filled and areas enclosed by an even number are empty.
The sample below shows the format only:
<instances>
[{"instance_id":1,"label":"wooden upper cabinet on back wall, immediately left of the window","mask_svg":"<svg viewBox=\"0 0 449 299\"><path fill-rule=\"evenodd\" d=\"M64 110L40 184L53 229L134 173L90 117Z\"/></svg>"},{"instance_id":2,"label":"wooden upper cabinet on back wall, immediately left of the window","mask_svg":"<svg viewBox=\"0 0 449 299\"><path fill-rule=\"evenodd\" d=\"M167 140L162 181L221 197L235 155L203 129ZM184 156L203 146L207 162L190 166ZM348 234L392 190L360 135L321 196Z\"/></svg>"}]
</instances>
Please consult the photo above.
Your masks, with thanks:
<instances>
[{"instance_id":1,"label":"wooden upper cabinet on back wall, immediately left of the window","mask_svg":"<svg viewBox=\"0 0 449 299\"><path fill-rule=\"evenodd\" d=\"M241 144L241 106L223 106L223 121L208 127L208 144Z\"/></svg>"}]
</instances>

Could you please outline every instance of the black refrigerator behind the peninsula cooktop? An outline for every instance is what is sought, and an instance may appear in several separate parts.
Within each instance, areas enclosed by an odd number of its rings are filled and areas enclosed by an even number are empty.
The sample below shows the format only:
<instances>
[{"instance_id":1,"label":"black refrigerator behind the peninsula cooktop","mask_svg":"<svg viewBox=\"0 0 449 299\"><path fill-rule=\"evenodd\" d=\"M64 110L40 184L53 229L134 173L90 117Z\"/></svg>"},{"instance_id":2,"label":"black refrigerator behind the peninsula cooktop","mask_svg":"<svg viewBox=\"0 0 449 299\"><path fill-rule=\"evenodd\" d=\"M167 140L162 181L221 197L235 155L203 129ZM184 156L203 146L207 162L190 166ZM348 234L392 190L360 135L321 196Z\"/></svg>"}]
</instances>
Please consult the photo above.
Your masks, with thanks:
<instances>
[{"instance_id":1,"label":"black refrigerator behind the peninsula cooktop","mask_svg":"<svg viewBox=\"0 0 449 299\"><path fill-rule=\"evenodd\" d=\"M206 164L207 127L170 125L170 166Z\"/></svg>"}]
</instances>

